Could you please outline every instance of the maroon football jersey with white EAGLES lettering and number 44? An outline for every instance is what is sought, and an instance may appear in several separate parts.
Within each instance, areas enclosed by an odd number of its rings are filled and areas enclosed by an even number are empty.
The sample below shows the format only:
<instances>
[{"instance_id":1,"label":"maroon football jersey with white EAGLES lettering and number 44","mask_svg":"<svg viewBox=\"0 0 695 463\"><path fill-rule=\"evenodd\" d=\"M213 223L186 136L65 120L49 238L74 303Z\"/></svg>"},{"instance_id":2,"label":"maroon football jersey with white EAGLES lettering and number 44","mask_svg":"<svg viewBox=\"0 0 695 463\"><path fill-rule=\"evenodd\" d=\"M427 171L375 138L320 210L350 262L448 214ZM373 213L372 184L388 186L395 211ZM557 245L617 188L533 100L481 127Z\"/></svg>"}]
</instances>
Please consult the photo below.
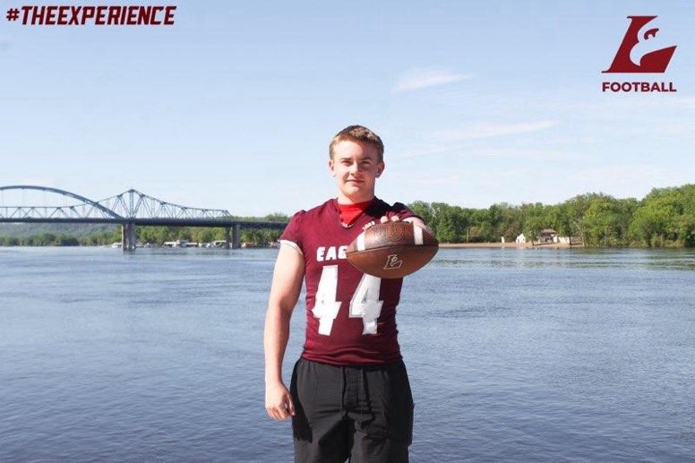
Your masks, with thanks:
<instances>
[{"instance_id":1,"label":"maroon football jersey with white EAGLES lettering and number 44","mask_svg":"<svg viewBox=\"0 0 695 463\"><path fill-rule=\"evenodd\" d=\"M413 217L411 210L374 198L351 227L340 223L338 201L300 210L280 236L304 254L306 341L302 357L324 364L384 364L401 358L396 306L403 279L380 279L350 265L345 251L382 216Z\"/></svg>"}]
</instances>

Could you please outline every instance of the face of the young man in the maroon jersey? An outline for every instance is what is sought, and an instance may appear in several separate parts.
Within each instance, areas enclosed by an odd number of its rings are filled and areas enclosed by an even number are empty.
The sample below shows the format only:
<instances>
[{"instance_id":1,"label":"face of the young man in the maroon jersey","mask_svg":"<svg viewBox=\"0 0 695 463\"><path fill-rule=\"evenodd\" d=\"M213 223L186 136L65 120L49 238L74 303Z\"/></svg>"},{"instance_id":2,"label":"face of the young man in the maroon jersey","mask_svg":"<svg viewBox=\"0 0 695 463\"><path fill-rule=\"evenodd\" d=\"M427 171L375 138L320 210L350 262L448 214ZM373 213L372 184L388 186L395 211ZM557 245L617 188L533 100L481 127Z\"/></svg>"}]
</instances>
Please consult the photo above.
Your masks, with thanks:
<instances>
[{"instance_id":1,"label":"face of the young man in the maroon jersey","mask_svg":"<svg viewBox=\"0 0 695 463\"><path fill-rule=\"evenodd\" d=\"M343 204L370 201L376 179L385 167L371 144L349 140L339 141L333 147L328 166L338 183L338 201Z\"/></svg>"}]
</instances>

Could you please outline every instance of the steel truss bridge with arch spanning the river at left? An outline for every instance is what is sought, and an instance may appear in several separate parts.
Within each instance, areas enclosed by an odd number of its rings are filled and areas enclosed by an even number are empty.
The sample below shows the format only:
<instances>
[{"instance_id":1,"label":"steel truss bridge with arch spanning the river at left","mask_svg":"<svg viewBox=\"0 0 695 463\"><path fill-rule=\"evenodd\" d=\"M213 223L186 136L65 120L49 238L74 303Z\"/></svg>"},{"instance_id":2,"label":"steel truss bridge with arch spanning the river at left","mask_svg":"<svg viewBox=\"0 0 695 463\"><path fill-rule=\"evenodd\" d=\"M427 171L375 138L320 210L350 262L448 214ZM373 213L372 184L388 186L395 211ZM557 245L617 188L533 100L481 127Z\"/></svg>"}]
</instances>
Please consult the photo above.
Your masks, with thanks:
<instances>
[{"instance_id":1,"label":"steel truss bridge with arch spanning the river at left","mask_svg":"<svg viewBox=\"0 0 695 463\"><path fill-rule=\"evenodd\" d=\"M227 210L190 208L153 198L137 190L92 201L76 193L37 185L0 186L7 190L38 190L74 200L68 206L0 205L0 223L102 223L120 224L124 250L135 249L135 226L224 227L226 247L240 247L242 228L283 229L283 222L236 220Z\"/></svg>"}]
</instances>

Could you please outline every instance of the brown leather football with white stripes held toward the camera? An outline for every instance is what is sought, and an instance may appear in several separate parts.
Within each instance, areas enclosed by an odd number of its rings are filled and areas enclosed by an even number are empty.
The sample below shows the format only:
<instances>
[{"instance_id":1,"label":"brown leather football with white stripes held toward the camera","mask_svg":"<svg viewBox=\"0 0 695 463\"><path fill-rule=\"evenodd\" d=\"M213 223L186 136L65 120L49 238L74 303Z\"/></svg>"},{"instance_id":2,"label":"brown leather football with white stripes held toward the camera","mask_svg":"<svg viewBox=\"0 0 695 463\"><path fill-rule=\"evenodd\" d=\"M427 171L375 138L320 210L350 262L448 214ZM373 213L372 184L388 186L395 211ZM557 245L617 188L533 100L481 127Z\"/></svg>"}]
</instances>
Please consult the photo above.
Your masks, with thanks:
<instances>
[{"instance_id":1,"label":"brown leather football with white stripes held toward the camera","mask_svg":"<svg viewBox=\"0 0 695 463\"><path fill-rule=\"evenodd\" d=\"M348 245L345 255L356 269L382 279L400 279L422 269L439 250L423 227L396 221L367 228Z\"/></svg>"}]
</instances>

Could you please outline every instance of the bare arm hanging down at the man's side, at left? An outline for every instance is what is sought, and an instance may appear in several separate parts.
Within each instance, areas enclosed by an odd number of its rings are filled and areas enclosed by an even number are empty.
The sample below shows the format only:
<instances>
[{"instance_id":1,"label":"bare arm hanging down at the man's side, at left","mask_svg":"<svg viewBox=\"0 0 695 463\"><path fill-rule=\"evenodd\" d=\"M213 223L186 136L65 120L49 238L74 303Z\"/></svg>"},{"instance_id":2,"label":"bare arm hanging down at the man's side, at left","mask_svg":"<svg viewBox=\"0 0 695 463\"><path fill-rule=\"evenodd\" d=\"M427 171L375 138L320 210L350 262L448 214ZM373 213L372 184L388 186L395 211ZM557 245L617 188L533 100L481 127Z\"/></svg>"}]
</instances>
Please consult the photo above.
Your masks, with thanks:
<instances>
[{"instance_id":1,"label":"bare arm hanging down at the man's side, at left","mask_svg":"<svg viewBox=\"0 0 695 463\"><path fill-rule=\"evenodd\" d=\"M281 244L275 261L268 312L265 315L265 408L276 420L295 414L289 390L282 382L282 359L289 339L289 319L302 290L304 256Z\"/></svg>"}]
</instances>

